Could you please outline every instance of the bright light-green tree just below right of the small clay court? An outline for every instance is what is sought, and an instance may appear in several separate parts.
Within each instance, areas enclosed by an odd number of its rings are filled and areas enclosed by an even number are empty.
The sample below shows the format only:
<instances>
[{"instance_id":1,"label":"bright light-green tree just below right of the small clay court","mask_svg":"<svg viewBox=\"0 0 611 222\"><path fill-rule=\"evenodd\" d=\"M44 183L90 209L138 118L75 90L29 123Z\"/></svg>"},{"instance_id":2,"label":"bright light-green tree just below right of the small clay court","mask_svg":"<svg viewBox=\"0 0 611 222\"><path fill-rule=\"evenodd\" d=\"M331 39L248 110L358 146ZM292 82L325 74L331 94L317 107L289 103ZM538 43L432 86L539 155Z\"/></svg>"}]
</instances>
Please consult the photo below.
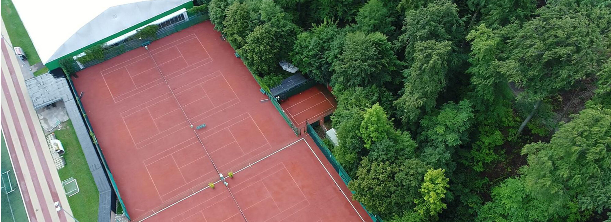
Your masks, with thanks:
<instances>
[{"instance_id":1,"label":"bright light-green tree just below right of the small clay court","mask_svg":"<svg viewBox=\"0 0 611 222\"><path fill-rule=\"evenodd\" d=\"M365 111L360 124L360 136L365 141L365 148L369 149L375 142L392 138L394 134L395 129L379 104L376 103Z\"/></svg>"}]
</instances>

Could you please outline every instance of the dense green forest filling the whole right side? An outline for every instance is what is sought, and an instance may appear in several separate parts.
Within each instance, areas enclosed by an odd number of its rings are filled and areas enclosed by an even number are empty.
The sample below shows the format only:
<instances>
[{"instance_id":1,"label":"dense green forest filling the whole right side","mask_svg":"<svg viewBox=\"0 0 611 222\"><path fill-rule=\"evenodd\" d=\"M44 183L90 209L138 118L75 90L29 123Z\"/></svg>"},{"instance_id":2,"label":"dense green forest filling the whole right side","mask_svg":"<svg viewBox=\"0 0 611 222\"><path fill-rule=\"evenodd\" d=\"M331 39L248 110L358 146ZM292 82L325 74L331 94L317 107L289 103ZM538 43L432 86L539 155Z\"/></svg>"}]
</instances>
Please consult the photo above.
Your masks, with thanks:
<instances>
[{"instance_id":1,"label":"dense green forest filling the whole right side","mask_svg":"<svg viewBox=\"0 0 611 222\"><path fill-rule=\"evenodd\" d=\"M611 1L197 0L268 87L332 87L384 221L611 221Z\"/></svg>"}]
</instances>

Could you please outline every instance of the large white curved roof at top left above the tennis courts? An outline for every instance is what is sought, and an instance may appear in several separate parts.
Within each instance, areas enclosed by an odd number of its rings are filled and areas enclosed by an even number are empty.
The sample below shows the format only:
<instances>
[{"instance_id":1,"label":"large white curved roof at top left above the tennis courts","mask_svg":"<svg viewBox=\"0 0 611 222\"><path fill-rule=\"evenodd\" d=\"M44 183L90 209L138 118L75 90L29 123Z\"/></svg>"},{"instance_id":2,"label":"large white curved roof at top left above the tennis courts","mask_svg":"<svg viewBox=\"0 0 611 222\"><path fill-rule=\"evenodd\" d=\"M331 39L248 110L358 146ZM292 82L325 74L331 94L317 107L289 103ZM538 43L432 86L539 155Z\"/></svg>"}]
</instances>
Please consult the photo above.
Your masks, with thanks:
<instances>
[{"instance_id":1,"label":"large white curved roof at top left above the tennis courts","mask_svg":"<svg viewBox=\"0 0 611 222\"><path fill-rule=\"evenodd\" d=\"M13 0L43 63L191 0Z\"/></svg>"}]
</instances>

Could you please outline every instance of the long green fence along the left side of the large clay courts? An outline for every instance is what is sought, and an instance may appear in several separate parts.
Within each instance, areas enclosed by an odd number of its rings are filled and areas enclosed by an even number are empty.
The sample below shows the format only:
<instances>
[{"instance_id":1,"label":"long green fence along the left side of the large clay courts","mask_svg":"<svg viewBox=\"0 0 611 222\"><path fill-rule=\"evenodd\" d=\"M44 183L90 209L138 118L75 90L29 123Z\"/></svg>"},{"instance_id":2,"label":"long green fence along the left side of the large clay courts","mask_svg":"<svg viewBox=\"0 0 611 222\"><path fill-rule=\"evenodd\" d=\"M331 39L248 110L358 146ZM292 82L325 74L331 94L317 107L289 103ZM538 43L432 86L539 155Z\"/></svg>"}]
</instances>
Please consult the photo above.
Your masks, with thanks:
<instances>
[{"instance_id":1,"label":"long green fence along the left side of the large clay courts","mask_svg":"<svg viewBox=\"0 0 611 222\"><path fill-rule=\"evenodd\" d=\"M95 138L95 134L93 133L93 127L91 127L91 123L89 122L89 117L87 117L87 113L85 112L85 108L82 106L81 99L78 97L78 94L76 93L76 87L74 83L72 82L72 79L70 79L70 77L67 77L66 79L68 80L68 83L70 85L70 88L71 88L70 91L72 91L72 95L74 96L76 100L76 105L78 106L78 109L81 110L81 116L83 120L85 121L85 127L87 127L87 130L89 131L89 135L91 136L91 139L93 141L93 146L95 146L95 149L98 153L100 162L102 162L102 165L104 166L104 170L106 170L106 174L108 174L108 179L111 181L112 189L114 190L115 194L117 195L119 204L121 204L121 207L123 207L123 214L125 214L125 217L127 217L128 220L131 220L130 215L128 215L127 213L127 208L125 207L125 203L123 203L123 199L121 198L121 195L119 194L119 188L117 188L117 183L114 180L114 176L112 176L111 169L108 167L108 162L106 162L106 158L104 157L104 154L102 153L102 150L100 149L100 145L97 142L97 138Z\"/></svg>"}]
</instances>

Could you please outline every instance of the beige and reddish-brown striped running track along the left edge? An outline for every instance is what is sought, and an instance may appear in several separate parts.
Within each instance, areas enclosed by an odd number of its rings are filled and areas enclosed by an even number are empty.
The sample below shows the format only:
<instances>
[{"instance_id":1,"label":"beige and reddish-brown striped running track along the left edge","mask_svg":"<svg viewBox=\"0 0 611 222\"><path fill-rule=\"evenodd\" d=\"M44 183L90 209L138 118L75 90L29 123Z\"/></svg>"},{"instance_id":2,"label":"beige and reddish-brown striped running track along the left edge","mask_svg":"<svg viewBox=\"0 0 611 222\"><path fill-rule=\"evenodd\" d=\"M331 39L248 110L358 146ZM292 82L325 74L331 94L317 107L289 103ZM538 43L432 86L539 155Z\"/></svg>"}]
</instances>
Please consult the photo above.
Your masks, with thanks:
<instances>
[{"instance_id":1,"label":"beige and reddish-brown striped running track along the left edge","mask_svg":"<svg viewBox=\"0 0 611 222\"><path fill-rule=\"evenodd\" d=\"M42 127L28 96L19 60L10 48L2 21L2 132L13 160L30 221L73 221L53 206L59 201L71 213L64 188L48 152Z\"/></svg>"}]
</instances>

